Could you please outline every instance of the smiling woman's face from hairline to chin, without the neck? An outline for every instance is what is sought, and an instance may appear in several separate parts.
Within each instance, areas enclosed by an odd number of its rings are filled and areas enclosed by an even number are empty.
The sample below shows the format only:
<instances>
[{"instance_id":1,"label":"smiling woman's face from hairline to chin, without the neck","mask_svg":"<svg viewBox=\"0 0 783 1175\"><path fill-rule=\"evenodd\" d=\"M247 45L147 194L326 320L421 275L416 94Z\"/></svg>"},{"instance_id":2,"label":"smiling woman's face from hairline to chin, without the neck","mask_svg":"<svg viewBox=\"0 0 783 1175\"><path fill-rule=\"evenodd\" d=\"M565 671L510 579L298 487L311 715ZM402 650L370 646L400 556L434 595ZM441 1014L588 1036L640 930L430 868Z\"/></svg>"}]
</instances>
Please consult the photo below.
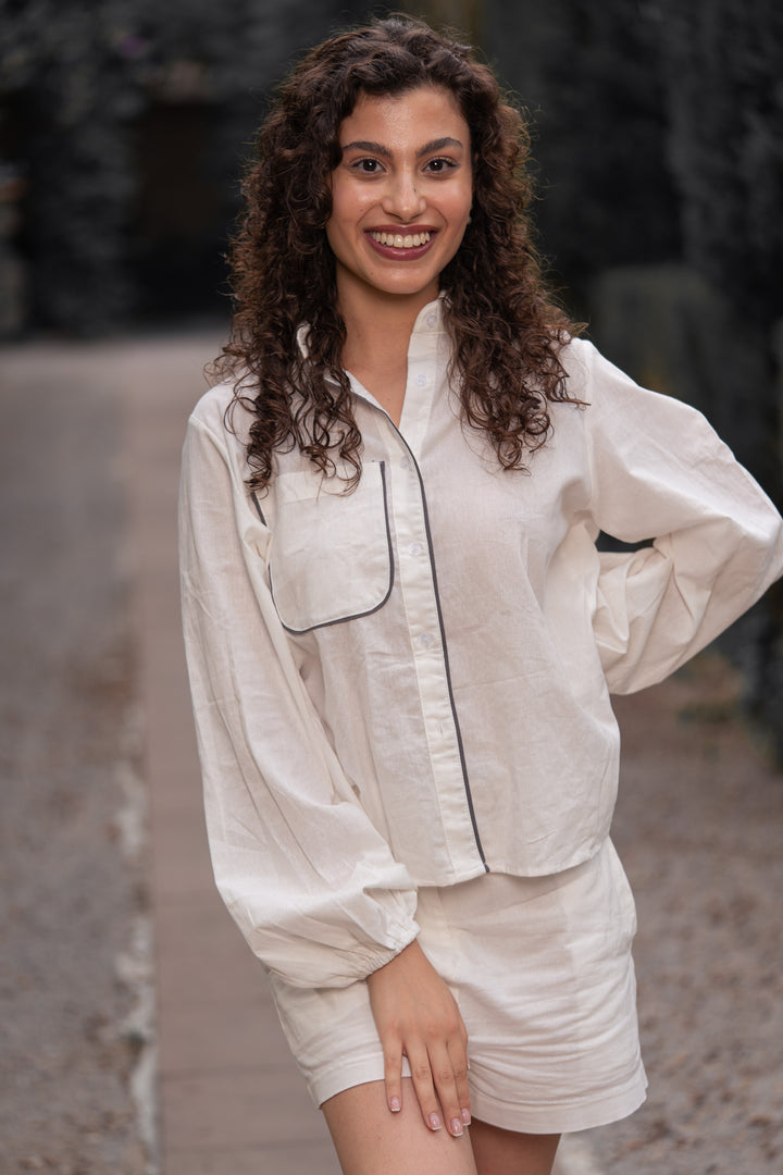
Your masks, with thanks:
<instances>
[{"instance_id":1,"label":"smiling woman's face from hairline to chin, without the neck","mask_svg":"<svg viewBox=\"0 0 783 1175\"><path fill-rule=\"evenodd\" d=\"M455 100L432 86L362 94L339 143L326 236L340 302L380 294L425 306L471 213L470 132Z\"/></svg>"}]
</instances>

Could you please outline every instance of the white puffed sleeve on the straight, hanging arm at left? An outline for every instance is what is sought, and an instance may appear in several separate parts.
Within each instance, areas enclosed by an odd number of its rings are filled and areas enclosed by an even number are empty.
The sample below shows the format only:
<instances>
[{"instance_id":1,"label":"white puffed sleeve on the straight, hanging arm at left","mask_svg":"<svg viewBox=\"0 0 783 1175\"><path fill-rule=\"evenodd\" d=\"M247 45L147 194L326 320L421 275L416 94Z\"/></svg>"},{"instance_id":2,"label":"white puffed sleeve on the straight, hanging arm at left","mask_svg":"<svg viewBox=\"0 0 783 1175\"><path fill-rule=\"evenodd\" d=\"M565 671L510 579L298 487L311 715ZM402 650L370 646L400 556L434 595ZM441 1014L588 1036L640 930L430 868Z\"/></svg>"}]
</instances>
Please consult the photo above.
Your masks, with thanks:
<instances>
[{"instance_id":1,"label":"white puffed sleeve on the straight, hanging arm at left","mask_svg":"<svg viewBox=\"0 0 783 1175\"><path fill-rule=\"evenodd\" d=\"M211 416L188 428L180 555L215 879L270 971L342 987L416 938L416 892L303 686L265 579L269 532Z\"/></svg>"}]
</instances>

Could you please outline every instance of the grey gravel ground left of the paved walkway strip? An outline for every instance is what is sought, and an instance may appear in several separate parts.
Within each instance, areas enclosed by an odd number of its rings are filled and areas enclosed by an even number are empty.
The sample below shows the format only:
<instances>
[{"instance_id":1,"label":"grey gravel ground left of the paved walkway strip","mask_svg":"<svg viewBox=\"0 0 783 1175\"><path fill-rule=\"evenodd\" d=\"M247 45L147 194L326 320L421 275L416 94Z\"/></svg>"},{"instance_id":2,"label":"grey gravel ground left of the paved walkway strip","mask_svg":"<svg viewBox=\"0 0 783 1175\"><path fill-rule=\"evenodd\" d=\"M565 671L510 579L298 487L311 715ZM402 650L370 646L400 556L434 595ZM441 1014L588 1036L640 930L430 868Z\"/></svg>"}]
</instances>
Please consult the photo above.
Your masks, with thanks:
<instances>
[{"instance_id":1,"label":"grey gravel ground left of the paved walkway strip","mask_svg":"<svg viewBox=\"0 0 783 1175\"><path fill-rule=\"evenodd\" d=\"M119 405L85 348L0 365L0 1171L137 1175L150 988Z\"/></svg>"}]
</instances>

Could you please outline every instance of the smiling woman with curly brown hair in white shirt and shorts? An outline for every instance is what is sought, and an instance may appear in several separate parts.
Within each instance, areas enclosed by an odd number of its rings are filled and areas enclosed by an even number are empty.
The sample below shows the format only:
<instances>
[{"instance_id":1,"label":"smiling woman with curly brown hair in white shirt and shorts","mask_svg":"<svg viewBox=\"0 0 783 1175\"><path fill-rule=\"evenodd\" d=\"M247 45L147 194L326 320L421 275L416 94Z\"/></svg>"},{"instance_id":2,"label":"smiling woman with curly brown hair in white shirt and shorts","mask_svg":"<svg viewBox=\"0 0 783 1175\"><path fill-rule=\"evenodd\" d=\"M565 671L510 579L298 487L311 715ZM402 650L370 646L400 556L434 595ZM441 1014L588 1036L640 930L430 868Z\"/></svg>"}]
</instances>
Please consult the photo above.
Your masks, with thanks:
<instances>
[{"instance_id":1,"label":"smiling woman with curly brown hair in white shirt and shorts","mask_svg":"<svg viewBox=\"0 0 783 1175\"><path fill-rule=\"evenodd\" d=\"M215 873L347 1175L545 1175L642 1101L609 691L783 568L703 418L548 302L525 147L419 22L313 49L185 445Z\"/></svg>"}]
</instances>

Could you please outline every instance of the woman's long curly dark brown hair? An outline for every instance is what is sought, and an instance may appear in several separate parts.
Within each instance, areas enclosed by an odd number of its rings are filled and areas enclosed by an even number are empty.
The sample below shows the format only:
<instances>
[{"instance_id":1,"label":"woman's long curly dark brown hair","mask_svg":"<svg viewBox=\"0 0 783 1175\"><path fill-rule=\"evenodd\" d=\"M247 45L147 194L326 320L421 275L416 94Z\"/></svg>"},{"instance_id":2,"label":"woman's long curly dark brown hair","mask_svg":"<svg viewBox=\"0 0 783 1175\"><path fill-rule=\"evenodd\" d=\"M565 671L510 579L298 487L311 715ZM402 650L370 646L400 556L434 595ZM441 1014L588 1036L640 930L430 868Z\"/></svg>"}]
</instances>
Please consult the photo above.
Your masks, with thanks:
<instances>
[{"instance_id":1,"label":"woman's long curly dark brown hair","mask_svg":"<svg viewBox=\"0 0 783 1175\"><path fill-rule=\"evenodd\" d=\"M506 469L545 443L548 403L566 401L559 360L579 331L549 298L532 241L529 136L472 49L423 21L392 16L311 49L279 88L244 180L245 214L231 250L235 315L212 364L236 378L252 412L251 489L274 472L276 450L298 446L323 472L335 457L362 471L362 434L340 365L345 323L326 241L340 123L360 94L421 86L453 95L471 133L473 207L460 248L440 275L463 418L484 430ZM298 328L308 325L306 356Z\"/></svg>"}]
</instances>

